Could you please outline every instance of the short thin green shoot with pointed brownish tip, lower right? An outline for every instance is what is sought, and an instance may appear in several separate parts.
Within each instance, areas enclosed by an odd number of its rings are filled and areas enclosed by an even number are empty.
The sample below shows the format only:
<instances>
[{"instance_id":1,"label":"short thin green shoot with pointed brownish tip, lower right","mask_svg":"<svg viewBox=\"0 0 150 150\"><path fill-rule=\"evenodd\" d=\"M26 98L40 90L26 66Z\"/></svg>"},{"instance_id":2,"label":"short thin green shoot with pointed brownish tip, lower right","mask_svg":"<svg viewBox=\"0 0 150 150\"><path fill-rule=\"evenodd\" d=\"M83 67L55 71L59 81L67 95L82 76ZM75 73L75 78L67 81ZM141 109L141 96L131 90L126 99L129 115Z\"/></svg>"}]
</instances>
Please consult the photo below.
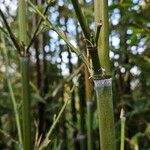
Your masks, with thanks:
<instances>
[{"instance_id":1,"label":"short thin green shoot with pointed brownish tip, lower right","mask_svg":"<svg viewBox=\"0 0 150 150\"><path fill-rule=\"evenodd\" d=\"M120 141L120 150L124 150L124 142L125 142L125 114L124 110L121 109L120 119L121 119L121 141Z\"/></svg>"}]
</instances>

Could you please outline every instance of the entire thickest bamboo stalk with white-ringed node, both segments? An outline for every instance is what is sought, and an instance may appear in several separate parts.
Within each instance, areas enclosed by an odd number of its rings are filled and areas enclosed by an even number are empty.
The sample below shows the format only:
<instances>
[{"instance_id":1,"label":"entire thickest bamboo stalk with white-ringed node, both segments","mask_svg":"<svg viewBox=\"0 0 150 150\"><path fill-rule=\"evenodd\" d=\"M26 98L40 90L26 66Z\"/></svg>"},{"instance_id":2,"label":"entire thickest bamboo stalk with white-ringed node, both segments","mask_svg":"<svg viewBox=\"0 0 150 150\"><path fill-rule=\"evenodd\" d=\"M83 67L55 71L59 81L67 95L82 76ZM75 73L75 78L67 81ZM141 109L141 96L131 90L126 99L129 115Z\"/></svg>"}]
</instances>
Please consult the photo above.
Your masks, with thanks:
<instances>
[{"instance_id":1,"label":"entire thickest bamboo stalk with white-ringed node, both segments","mask_svg":"<svg viewBox=\"0 0 150 150\"><path fill-rule=\"evenodd\" d=\"M115 150L115 125L112 101L112 79L109 60L108 0L95 0L95 21L101 23L98 38L98 54L102 70L101 77L94 77L97 96L101 150Z\"/></svg>"}]
</instances>

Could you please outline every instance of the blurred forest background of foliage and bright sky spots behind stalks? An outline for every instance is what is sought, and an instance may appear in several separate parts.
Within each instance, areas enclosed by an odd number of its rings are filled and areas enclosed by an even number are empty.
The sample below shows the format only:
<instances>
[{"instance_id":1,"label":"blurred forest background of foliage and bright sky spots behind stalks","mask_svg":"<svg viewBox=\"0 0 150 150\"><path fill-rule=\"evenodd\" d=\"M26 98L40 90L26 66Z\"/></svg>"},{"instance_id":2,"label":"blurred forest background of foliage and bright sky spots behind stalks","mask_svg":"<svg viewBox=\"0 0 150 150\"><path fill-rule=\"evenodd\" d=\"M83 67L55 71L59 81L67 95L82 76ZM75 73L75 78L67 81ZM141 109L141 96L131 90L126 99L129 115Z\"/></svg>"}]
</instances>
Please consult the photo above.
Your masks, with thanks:
<instances>
[{"instance_id":1,"label":"blurred forest background of foliage and bright sky spots behind stalks","mask_svg":"<svg viewBox=\"0 0 150 150\"><path fill-rule=\"evenodd\" d=\"M44 10L49 1L32 2ZM80 0L89 27L94 30L92 0ZM126 112L126 150L150 150L150 3L147 0L109 0L110 59L113 73L113 102L117 149L120 141L120 110ZM13 33L18 37L17 1L0 0ZM53 25L59 26L75 47L84 52L85 39L70 0L51 2L47 12ZM28 7L28 42L40 17ZM12 101L6 81L4 43L9 60L9 79L18 110L21 110L21 82L18 54L0 19L0 149L15 149L17 130ZM80 59L72 53L54 31L42 24L30 52L30 85L32 96L33 141L36 129L45 135L64 101L71 99L58 122L49 147L51 149L82 149L86 133L85 71ZM80 68L79 68L80 67ZM75 75L70 78L72 74ZM67 94L73 86L74 91ZM94 149L99 149L98 119L93 92ZM21 115L20 115L21 116ZM36 125L38 124L38 125ZM38 127L37 127L38 126ZM82 135L82 136L81 136ZM36 143L36 142L35 142ZM87 149L86 144L84 149Z\"/></svg>"}]
</instances>

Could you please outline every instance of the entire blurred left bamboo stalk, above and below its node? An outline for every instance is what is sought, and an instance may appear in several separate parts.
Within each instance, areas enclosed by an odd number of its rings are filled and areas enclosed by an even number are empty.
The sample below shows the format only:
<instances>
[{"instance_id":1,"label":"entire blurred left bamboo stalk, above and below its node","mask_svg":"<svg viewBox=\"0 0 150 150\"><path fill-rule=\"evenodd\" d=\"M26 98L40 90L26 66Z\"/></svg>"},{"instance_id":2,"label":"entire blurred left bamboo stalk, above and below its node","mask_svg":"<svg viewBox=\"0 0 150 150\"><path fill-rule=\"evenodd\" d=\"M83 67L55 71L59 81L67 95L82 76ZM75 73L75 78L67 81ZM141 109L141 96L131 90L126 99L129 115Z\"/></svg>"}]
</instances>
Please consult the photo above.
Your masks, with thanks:
<instances>
[{"instance_id":1,"label":"entire blurred left bamboo stalk, above and below its node","mask_svg":"<svg viewBox=\"0 0 150 150\"><path fill-rule=\"evenodd\" d=\"M19 0L18 3L19 17L19 41L22 48L22 56L20 58L21 77L22 77L22 122L23 122L23 147L24 150L31 150L31 116L30 116L30 88L29 88L29 57L25 51L27 44L27 20L26 20L26 2Z\"/></svg>"}]
</instances>

